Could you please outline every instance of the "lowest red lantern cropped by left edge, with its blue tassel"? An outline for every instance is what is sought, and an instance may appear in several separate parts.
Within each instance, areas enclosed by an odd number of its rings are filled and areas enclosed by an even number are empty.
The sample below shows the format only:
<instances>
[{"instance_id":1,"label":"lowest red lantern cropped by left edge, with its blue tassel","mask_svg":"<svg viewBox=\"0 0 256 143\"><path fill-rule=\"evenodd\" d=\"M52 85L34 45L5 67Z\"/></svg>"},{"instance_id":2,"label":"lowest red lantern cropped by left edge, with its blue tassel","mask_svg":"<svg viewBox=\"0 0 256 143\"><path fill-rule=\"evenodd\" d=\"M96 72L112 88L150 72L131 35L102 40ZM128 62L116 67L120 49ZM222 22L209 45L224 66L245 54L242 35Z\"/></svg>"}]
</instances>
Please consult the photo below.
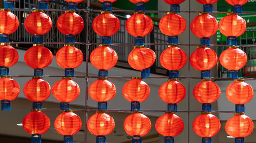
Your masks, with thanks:
<instances>
[{"instance_id":1,"label":"lowest red lantern cropped by left edge, with its blue tassel","mask_svg":"<svg viewBox=\"0 0 256 143\"><path fill-rule=\"evenodd\" d=\"M0 100L2 100L2 110L11 110L10 101L16 99L20 92L18 83L10 76L3 76L0 79Z\"/></svg>"}]
</instances>

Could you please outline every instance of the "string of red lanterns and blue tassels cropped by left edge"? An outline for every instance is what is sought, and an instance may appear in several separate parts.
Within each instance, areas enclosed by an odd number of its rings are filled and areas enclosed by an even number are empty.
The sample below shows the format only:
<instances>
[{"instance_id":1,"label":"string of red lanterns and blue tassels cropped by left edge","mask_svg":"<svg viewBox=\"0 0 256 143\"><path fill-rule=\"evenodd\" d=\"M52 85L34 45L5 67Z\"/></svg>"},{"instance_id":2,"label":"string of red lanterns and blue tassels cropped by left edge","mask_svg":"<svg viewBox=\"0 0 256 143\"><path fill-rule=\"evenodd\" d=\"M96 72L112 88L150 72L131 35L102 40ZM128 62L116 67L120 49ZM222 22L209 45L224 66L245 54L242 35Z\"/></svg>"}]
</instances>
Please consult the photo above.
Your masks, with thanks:
<instances>
[{"instance_id":1,"label":"string of red lanterns and blue tassels cropped by left edge","mask_svg":"<svg viewBox=\"0 0 256 143\"><path fill-rule=\"evenodd\" d=\"M14 66L19 58L17 50L9 43L9 35L19 26L12 10L13 1L4 1L4 9L0 10L0 100L1 109L6 111L11 110L10 101L16 99L20 92L18 83L9 75L9 67Z\"/></svg>"}]
</instances>

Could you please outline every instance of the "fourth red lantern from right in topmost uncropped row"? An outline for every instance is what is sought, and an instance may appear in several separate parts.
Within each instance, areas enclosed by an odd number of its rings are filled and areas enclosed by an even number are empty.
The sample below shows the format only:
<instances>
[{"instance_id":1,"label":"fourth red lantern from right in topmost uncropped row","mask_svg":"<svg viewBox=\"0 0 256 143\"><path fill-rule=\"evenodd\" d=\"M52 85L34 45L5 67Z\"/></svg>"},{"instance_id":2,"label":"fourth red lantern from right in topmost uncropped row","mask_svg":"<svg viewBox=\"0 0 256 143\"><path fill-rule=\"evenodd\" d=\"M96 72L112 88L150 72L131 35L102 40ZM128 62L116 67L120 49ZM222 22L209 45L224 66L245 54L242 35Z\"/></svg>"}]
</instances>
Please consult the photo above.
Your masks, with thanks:
<instances>
[{"instance_id":1,"label":"fourth red lantern from right in topmost uncropped row","mask_svg":"<svg viewBox=\"0 0 256 143\"><path fill-rule=\"evenodd\" d=\"M144 37L153 30L153 21L145 14L135 13L125 22L126 30L134 37Z\"/></svg>"}]
</instances>

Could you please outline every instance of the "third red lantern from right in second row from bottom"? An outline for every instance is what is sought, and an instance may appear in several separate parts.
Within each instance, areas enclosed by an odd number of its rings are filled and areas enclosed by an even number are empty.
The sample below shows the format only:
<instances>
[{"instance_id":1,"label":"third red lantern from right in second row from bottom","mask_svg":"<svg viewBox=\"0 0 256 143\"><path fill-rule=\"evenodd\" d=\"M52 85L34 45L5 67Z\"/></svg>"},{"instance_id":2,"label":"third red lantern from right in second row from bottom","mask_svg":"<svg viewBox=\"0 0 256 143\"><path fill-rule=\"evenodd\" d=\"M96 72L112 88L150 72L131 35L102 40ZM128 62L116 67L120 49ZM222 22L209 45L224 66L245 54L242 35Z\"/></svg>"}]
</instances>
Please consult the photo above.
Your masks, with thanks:
<instances>
[{"instance_id":1,"label":"third red lantern from right in second row from bottom","mask_svg":"<svg viewBox=\"0 0 256 143\"><path fill-rule=\"evenodd\" d=\"M177 80L169 79L161 85L158 90L160 98L166 103L178 103L186 96L186 89L182 83ZM171 96L170 96L171 95Z\"/></svg>"}]
</instances>

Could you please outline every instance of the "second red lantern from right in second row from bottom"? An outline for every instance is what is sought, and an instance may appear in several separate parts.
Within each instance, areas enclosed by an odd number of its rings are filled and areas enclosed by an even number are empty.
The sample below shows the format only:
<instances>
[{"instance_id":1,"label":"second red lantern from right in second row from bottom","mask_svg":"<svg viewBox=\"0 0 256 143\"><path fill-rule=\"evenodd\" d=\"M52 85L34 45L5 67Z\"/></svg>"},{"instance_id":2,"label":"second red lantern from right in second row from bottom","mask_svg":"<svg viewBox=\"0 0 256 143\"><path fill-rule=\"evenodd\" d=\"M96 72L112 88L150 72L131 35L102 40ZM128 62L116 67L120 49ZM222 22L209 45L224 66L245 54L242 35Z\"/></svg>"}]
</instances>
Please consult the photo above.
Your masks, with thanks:
<instances>
[{"instance_id":1,"label":"second red lantern from right in second row from bottom","mask_svg":"<svg viewBox=\"0 0 256 143\"><path fill-rule=\"evenodd\" d=\"M219 99L221 89L218 84L211 80L202 80L194 88L193 95L200 103L212 103Z\"/></svg>"}]
</instances>

